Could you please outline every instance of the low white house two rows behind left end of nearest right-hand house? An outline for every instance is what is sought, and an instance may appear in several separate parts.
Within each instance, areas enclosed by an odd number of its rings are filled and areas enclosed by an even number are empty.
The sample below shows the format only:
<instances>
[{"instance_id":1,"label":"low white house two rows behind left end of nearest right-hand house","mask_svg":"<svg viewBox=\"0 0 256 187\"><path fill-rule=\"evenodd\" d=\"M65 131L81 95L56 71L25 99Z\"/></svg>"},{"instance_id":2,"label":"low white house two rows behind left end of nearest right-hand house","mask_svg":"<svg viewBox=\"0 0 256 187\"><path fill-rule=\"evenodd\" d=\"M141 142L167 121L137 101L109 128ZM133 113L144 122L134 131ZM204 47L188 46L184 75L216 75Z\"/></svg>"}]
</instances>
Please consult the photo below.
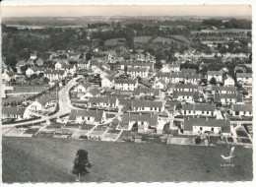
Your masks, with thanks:
<instances>
[{"instance_id":1,"label":"low white house two rows behind left end of nearest right-hand house","mask_svg":"<svg viewBox=\"0 0 256 187\"><path fill-rule=\"evenodd\" d=\"M199 100L199 92L173 92L172 99L192 102L194 100Z\"/></svg>"}]
</instances>

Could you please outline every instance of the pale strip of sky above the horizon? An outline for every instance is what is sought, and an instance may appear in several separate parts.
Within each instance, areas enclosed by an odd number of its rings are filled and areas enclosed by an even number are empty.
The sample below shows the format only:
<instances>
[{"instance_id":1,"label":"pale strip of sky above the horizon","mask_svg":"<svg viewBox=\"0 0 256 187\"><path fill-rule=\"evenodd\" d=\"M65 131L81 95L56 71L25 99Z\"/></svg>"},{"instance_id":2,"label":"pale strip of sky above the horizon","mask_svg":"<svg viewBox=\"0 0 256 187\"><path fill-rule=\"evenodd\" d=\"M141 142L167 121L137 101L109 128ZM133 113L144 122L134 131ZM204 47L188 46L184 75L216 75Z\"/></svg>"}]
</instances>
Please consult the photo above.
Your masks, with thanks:
<instances>
[{"instance_id":1,"label":"pale strip of sky above the horizon","mask_svg":"<svg viewBox=\"0 0 256 187\"><path fill-rule=\"evenodd\" d=\"M249 5L193 6L2 6L7 17L81 17L81 16L220 16L251 17Z\"/></svg>"}]
</instances>

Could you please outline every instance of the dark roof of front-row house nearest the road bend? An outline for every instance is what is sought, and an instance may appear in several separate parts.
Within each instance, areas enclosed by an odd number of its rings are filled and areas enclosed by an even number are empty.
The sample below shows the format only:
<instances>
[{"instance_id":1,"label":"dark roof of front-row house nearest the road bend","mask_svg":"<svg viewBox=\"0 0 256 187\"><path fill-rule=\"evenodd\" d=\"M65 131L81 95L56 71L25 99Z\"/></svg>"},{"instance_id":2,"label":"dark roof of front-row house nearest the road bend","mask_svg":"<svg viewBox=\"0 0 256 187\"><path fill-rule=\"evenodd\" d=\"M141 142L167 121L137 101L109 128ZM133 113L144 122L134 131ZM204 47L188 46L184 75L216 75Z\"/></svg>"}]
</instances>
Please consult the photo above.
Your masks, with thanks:
<instances>
[{"instance_id":1,"label":"dark roof of front-row house nearest the road bend","mask_svg":"<svg viewBox=\"0 0 256 187\"><path fill-rule=\"evenodd\" d=\"M103 110L93 110L93 109L77 110L77 109L72 109L71 113L69 115L69 120L74 121L79 116L95 117L95 121L99 122L102 119Z\"/></svg>"}]
</instances>

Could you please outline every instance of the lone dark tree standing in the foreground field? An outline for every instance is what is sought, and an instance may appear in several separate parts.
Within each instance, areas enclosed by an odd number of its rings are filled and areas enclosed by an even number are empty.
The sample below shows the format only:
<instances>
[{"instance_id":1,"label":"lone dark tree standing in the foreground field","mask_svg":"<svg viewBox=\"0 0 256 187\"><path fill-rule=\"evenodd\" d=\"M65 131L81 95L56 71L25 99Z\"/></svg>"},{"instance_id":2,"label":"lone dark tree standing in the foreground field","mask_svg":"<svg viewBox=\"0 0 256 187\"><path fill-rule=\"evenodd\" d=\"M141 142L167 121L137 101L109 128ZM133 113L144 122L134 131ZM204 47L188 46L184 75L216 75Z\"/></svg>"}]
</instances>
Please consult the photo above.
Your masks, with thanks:
<instances>
[{"instance_id":1,"label":"lone dark tree standing in the foreground field","mask_svg":"<svg viewBox=\"0 0 256 187\"><path fill-rule=\"evenodd\" d=\"M86 150L79 150L74 159L74 166L72 173L79 176L89 173L88 168L91 168L92 164L88 159L88 152Z\"/></svg>"}]
</instances>

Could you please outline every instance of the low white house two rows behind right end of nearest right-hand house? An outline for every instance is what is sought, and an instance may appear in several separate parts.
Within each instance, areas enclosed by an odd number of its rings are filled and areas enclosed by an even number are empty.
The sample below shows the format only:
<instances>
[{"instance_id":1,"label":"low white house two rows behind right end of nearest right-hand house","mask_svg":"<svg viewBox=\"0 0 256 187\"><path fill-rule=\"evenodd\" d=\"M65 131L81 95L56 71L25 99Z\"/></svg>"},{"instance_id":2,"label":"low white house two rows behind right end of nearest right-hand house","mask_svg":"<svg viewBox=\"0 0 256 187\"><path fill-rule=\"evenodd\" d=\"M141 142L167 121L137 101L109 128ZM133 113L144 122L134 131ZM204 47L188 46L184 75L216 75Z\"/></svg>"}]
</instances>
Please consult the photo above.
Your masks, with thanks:
<instances>
[{"instance_id":1,"label":"low white house two rows behind right end of nearest right-hand house","mask_svg":"<svg viewBox=\"0 0 256 187\"><path fill-rule=\"evenodd\" d=\"M243 97L242 94L215 94L214 101L222 104L243 103Z\"/></svg>"}]
</instances>

